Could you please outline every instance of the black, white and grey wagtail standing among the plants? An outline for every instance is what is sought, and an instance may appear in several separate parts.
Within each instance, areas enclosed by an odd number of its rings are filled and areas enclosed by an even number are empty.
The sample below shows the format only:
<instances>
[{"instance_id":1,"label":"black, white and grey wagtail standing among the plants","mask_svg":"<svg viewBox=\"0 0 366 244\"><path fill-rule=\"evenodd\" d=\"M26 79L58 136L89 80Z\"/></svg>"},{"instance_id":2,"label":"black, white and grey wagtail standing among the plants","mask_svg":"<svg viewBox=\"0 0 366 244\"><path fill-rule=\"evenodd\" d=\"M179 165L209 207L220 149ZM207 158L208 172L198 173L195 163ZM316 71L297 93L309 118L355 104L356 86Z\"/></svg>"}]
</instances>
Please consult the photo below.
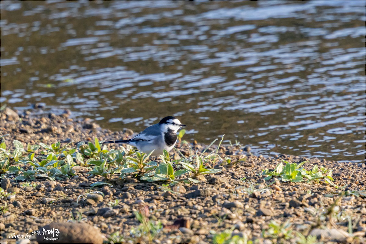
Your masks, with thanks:
<instances>
[{"instance_id":1,"label":"black, white and grey wagtail standing among the plants","mask_svg":"<svg viewBox=\"0 0 366 244\"><path fill-rule=\"evenodd\" d=\"M180 127L186 127L180 123L178 119L173 116L165 117L159 123L151 125L144 129L139 134L132 137L130 140L110 140L104 143L125 143L134 147L144 153L152 153L152 156L159 156L163 154L163 150L168 152L173 149L177 142L177 131Z\"/></svg>"}]
</instances>

